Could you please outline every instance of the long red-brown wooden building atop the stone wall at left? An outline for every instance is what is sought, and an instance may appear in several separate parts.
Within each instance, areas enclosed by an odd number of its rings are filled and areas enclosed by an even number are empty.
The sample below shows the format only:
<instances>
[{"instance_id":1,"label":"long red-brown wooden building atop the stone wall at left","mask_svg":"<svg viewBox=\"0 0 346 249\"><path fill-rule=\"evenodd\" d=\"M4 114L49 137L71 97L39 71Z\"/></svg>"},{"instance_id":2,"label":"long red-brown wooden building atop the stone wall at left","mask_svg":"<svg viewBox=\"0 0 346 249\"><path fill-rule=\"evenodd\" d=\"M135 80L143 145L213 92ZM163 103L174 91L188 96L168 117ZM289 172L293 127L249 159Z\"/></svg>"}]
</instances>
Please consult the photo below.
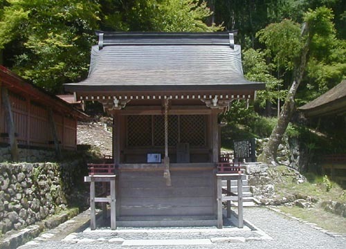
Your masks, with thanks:
<instances>
[{"instance_id":1,"label":"long red-brown wooden building atop the stone wall at left","mask_svg":"<svg viewBox=\"0 0 346 249\"><path fill-rule=\"evenodd\" d=\"M76 149L77 119L86 118L84 113L3 66L0 66L0 93L2 146L10 143L12 132L21 147Z\"/></svg>"}]
</instances>

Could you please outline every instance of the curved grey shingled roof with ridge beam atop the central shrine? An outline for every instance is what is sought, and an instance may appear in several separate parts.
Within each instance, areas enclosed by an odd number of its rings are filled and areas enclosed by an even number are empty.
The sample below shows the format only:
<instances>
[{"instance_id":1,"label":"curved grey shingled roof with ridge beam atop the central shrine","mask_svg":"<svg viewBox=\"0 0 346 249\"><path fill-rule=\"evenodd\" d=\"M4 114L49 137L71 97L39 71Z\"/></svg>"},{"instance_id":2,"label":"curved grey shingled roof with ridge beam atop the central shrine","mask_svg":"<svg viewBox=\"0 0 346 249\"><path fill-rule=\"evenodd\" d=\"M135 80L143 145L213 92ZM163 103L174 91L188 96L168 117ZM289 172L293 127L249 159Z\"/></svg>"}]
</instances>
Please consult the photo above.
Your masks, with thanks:
<instances>
[{"instance_id":1,"label":"curved grey shingled roof with ridge beam atop the central shrine","mask_svg":"<svg viewBox=\"0 0 346 249\"><path fill-rule=\"evenodd\" d=\"M66 91L264 89L245 80L232 33L97 33L89 76Z\"/></svg>"}]
</instances>

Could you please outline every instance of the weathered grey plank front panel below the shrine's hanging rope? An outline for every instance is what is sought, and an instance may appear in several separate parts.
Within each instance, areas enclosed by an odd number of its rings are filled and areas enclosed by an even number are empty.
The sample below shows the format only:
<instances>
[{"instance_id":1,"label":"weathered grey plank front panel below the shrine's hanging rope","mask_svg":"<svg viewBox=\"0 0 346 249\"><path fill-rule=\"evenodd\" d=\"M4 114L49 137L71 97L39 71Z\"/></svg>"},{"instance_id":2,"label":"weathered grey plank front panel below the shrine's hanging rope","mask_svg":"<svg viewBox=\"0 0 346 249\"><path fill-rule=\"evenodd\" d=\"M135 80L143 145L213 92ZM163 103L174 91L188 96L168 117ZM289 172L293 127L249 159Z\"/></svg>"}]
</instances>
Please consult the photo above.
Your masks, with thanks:
<instances>
[{"instance_id":1,"label":"weathered grey plank front panel below the shrine's hanging rope","mask_svg":"<svg viewBox=\"0 0 346 249\"><path fill-rule=\"evenodd\" d=\"M121 172L120 216L212 216L215 193L212 171L171 172L167 187L163 172Z\"/></svg>"}]
</instances>

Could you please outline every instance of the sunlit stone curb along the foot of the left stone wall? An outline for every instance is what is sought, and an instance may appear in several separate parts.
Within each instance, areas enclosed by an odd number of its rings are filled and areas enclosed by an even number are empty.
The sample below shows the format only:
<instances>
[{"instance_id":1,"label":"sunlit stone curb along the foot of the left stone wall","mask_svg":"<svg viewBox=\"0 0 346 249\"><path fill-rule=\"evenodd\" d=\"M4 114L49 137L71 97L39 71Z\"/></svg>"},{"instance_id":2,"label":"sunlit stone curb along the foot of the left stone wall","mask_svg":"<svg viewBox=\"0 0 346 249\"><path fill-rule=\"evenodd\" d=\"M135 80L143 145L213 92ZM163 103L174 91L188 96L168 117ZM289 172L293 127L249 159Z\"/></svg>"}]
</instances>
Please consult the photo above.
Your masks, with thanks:
<instances>
[{"instance_id":1,"label":"sunlit stone curb along the foot of the left stone wall","mask_svg":"<svg viewBox=\"0 0 346 249\"><path fill-rule=\"evenodd\" d=\"M76 216L79 210L78 208L70 208L69 210L64 210L62 212L64 213L55 214L48 217L48 219L37 221L34 225L28 225L26 228L19 231L11 230L0 239L0 249L10 249L22 246L31 239L38 237L42 232L56 228L58 225Z\"/></svg>"}]
</instances>

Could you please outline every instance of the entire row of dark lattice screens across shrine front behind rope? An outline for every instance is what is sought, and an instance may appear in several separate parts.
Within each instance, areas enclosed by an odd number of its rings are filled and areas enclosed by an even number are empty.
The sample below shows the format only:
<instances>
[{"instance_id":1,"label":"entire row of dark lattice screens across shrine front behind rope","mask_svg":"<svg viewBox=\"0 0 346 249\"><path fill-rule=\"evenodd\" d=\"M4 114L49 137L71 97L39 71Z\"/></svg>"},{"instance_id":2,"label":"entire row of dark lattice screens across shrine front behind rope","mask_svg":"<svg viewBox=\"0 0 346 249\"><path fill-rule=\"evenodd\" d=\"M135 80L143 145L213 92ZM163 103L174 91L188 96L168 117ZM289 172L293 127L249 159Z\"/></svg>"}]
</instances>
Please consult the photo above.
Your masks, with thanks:
<instances>
[{"instance_id":1,"label":"entire row of dark lattice screens across shrine front behind rope","mask_svg":"<svg viewBox=\"0 0 346 249\"><path fill-rule=\"evenodd\" d=\"M176 146L179 142L188 142L190 146L206 145L206 116L168 116L168 145ZM164 116L127 116L127 145L164 146Z\"/></svg>"}]
</instances>

